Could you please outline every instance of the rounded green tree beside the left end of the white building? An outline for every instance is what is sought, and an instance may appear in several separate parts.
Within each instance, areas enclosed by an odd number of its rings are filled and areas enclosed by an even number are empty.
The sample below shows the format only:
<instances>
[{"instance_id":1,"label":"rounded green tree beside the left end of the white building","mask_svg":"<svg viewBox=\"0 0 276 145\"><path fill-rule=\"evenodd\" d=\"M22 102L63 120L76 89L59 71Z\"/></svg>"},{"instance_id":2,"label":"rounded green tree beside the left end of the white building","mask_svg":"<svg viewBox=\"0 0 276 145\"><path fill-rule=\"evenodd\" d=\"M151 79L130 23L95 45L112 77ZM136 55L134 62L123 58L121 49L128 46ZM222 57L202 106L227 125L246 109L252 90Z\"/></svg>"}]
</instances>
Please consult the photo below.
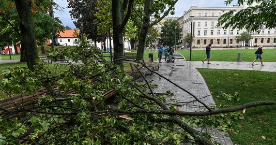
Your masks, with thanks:
<instances>
[{"instance_id":1,"label":"rounded green tree beside the left end of the white building","mask_svg":"<svg viewBox=\"0 0 276 145\"><path fill-rule=\"evenodd\" d=\"M176 28L175 28L176 27ZM179 36L181 28L176 20L169 19L161 27L161 41L163 45L174 46L176 37Z\"/></svg>"}]
</instances>

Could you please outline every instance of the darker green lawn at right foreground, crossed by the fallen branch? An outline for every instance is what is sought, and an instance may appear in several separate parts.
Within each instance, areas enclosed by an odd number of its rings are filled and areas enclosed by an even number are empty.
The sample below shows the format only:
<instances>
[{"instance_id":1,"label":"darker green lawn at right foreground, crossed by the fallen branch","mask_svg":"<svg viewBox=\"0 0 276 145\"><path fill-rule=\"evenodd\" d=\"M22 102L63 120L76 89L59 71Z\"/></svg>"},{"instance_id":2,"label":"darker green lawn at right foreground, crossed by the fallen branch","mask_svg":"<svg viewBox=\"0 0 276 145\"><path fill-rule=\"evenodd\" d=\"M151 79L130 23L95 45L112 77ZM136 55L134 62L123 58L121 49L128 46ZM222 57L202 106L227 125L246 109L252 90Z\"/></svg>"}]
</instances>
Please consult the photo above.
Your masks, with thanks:
<instances>
[{"instance_id":1,"label":"darker green lawn at right foreground, crossed by the fallen branch","mask_svg":"<svg viewBox=\"0 0 276 145\"><path fill-rule=\"evenodd\" d=\"M197 70L203 76L217 106L232 107L248 102L276 100L274 72ZM240 101L228 101L220 95L234 92L239 93ZM235 145L275 145L276 105L247 108L244 116L244 120L234 121L233 131L230 131Z\"/></svg>"}]
</instances>

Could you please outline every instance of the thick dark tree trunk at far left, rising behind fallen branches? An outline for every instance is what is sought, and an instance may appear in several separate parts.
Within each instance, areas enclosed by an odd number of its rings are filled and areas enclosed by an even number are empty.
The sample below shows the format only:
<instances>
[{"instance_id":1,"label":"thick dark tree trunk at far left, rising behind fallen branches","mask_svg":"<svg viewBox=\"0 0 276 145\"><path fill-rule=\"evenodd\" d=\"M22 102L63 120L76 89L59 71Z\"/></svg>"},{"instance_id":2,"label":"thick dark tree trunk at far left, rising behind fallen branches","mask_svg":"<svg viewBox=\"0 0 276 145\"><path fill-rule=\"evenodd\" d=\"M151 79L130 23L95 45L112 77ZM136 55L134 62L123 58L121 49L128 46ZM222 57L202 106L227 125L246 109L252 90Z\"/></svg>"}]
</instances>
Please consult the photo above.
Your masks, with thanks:
<instances>
[{"instance_id":1,"label":"thick dark tree trunk at far left, rising behind fallen branches","mask_svg":"<svg viewBox=\"0 0 276 145\"><path fill-rule=\"evenodd\" d=\"M27 65L33 70L35 59L38 58L34 34L34 22L31 13L31 0L15 0L16 10L19 15L19 27L22 32L24 47L23 55L27 58ZM21 58L20 58L21 60Z\"/></svg>"}]
</instances>

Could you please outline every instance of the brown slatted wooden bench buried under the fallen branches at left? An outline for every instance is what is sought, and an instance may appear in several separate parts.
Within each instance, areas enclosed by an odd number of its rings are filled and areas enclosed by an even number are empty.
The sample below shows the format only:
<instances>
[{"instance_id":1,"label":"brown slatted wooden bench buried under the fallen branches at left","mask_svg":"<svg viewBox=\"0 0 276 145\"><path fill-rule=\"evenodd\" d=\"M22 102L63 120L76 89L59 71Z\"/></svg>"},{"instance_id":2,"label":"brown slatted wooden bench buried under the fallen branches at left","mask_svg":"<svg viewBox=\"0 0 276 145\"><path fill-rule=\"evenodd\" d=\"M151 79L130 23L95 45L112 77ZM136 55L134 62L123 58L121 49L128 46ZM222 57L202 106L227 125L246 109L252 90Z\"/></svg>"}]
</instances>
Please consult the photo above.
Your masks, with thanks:
<instances>
[{"instance_id":1,"label":"brown slatted wooden bench buried under the fallen branches at left","mask_svg":"<svg viewBox=\"0 0 276 145\"><path fill-rule=\"evenodd\" d=\"M52 89L55 92L58 92L58 88L52 87ZM111 96L114 96L116 93L115 89L111 89L107 92L105 92L103 94L104 99L107 100L108 98L110 98ZM40 88L39 90L37 90L34 94L22 94L16 97L12 97L12 98L8 98L5 100L0 101L0 116L2 118L15 118L15 117L20 117L24 114L26 114L28 112L28 110L33 107L35 105L35 101L42 97L43 95L47 95L48 92L46 90L46 88ZM61 91L61 95L64 95L64 92ZM69 92L66 94L67 96L71 96L77 94L77 91L75 89L70 89ZM66 101L69 98L55 98L56 101ZM69 99L70 100L70 99ZM89 104L91 104L91 102L89 100L91 100L91 98L84 98L84 100L86 100ZM97 105L98 102L95 100L94 104ZM22 109L25 109L26 111L22 111ZM29 126L28 131L21 135L20 137L18 137L18 141L20 144L25 143L30 141L29 139L29 135L31 133L33 133L33 129L31 128L31 126Z\"/></svg>"}]
</instances>

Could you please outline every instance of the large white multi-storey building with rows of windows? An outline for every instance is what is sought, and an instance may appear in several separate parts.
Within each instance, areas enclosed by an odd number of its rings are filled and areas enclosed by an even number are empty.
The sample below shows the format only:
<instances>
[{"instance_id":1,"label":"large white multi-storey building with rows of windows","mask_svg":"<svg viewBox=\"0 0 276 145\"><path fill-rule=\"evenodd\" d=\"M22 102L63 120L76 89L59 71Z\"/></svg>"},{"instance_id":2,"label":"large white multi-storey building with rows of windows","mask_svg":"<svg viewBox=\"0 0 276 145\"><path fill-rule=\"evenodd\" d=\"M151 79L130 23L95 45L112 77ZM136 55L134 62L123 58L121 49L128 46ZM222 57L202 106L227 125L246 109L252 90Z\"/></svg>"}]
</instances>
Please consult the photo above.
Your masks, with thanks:
<instances>
[{"instance_id":1,"label":"large white multi-storey building with rows of windows","mask_svg":"<svg viewBox=\"0 0 276 145\"><path fill-rule=\"evenodd\" d=\"M256 3L254 4L256 5ZM276 45L276 29L262 29L260 34L251 33L253 37L249 42L237 42L236 36L239 36L245 29L222 29L216 27L218 18L229 12L230 10L240 11L248 7L246 1L244 5L233 7L211 7L199 8L198 6L191 6L188 11L184 11L183 23L183 38L191 33L195 36L195 41L192 42L192 47L204 48L207 44L212 43L212 47L240 47L242 46L275 46ZM257 20L256 20L257 21ZM191 23L192 29L191 29ZM187 43L189 46L190 42Z\"/></svg>"}]
</instances>

